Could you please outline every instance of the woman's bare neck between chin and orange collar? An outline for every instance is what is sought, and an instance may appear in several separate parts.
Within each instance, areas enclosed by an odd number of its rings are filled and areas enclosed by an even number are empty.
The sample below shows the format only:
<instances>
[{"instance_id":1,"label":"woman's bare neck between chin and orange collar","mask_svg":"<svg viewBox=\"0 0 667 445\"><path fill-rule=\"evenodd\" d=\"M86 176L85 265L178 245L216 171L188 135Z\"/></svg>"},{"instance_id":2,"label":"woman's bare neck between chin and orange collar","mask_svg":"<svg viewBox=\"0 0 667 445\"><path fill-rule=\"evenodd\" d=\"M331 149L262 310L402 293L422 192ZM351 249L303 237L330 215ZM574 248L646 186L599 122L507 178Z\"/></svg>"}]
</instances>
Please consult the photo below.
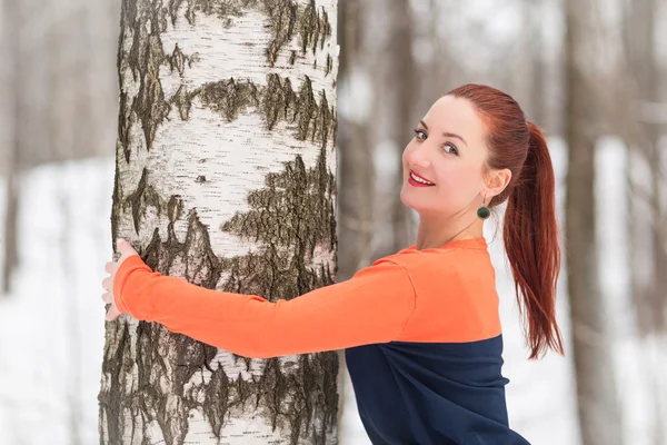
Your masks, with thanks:
<instances>
[{"instance_id":1,"label":"woman's bare neck between chin and orange collar","mask_svg":"<svg viewBox=\"0 0 667 445\"><path fill-rule=\"evenodd\" d=\"M437 220L420 217L415 248L417 250L439 248L456 240L481 238L482 228L484 220L476 217L472 220L469 218Z\"/></svg>"}]
</instances>

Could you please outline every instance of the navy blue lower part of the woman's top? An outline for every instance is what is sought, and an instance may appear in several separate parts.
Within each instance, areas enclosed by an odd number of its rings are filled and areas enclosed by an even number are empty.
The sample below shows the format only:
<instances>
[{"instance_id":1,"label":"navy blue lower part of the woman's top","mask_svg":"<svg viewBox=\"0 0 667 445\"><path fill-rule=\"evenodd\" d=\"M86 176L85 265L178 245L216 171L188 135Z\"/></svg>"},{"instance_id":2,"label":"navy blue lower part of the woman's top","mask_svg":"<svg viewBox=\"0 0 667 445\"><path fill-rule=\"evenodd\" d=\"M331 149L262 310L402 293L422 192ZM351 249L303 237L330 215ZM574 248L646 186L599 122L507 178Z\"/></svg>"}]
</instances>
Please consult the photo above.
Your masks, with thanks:
<instances>
[{"instance_id":1,"label":"navy blue lower part of the woman's top","mask_svg":"<svg viewBox=\"0 0 667 445\"><path fill-rule=\"evenodd\" d=\"M345 352L374 445L525 445L508 427L502 336L365 345Z\"/></svg>"}]
</instances>

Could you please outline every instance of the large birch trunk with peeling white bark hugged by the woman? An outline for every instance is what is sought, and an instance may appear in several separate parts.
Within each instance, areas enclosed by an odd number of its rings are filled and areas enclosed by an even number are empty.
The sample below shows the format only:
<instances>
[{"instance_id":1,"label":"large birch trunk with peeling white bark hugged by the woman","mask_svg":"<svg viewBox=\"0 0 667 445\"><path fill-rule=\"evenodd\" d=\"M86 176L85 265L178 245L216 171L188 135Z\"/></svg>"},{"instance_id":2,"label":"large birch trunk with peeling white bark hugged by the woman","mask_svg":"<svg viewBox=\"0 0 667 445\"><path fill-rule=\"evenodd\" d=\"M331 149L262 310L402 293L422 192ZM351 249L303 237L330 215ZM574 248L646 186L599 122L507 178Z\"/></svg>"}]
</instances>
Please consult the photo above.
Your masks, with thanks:
<instances>
[{"instance_id":1,"label":"large birch trunk with peeling white bark hugged by the woman","mask_svg":"<svg viewBox=\"0 0 667 445\"><path fill-rule=\"evenodd\" d=\"M112 238L163 275L290 299L336 274L336 0L125 0ZM251 359L107 324L103 444L331 444L336 352Z\"/></svg>"}]
</instances>

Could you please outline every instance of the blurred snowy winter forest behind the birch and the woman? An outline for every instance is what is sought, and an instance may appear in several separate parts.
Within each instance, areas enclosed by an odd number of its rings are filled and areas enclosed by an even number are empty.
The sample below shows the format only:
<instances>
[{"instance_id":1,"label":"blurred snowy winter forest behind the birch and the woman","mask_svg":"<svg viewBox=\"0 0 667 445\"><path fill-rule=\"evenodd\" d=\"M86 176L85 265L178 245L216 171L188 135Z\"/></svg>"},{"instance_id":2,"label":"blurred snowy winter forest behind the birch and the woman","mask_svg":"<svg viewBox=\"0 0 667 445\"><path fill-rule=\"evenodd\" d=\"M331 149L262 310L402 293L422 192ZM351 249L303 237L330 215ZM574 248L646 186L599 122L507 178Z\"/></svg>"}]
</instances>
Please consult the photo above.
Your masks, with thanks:
<instances>
[{"instance_id":1,"label":"blurred snowy winter forest behind the birch and the woman","mask_svg":"<svg viewBox=\"0 0 667 445\"><path fill-rule=\"evenodd\" d=\"M120 3L0 0L0 444L100 443ZM565 249L566 356L529 362L501 230L485 234L510 424L537 445L667 444L667 1L337 11L337 279L412 244L400 154L428 107L500 88L549 137ZM369 444L342 365L339 442Z\"/></svg>"}]
</instances>

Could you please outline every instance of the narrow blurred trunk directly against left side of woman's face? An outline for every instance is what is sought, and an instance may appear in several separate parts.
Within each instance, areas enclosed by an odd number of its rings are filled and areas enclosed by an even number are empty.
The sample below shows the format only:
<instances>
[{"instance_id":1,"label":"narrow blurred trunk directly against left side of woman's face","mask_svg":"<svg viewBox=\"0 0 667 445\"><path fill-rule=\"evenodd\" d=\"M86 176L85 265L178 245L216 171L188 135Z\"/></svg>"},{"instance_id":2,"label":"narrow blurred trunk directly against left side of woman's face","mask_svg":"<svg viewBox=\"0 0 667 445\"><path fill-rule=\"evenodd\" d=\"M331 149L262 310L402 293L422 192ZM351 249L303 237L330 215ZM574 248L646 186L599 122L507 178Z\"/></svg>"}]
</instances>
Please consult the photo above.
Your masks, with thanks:
<instances>
[{"instance_id":1,"label":"narrow blurred trunk directly against left side of woman's face","mask_svg":"<svg viewBox=\"0 0 667 445\"><path fill-rule=\"evenodd\" d=\"M390 88L394 90L395 102L391 113L392 139L397 145L398 165L396 170L396 182L392 224L394 246L391 251L396 253L412 244L416 236L412 224L411 211L400 200L400 188L404 182L402 151L410 140L411 129L417 125L412 111L415 99L418 96L418 82L415 79L415 60L412 59L412 9L409 0L394 0L391 7L391 37L389 38L388 55L390 57ZM426 112L426 111L425 111ZM385 254L385 255L387 255Z\"/></svg>"}]
</instances>

